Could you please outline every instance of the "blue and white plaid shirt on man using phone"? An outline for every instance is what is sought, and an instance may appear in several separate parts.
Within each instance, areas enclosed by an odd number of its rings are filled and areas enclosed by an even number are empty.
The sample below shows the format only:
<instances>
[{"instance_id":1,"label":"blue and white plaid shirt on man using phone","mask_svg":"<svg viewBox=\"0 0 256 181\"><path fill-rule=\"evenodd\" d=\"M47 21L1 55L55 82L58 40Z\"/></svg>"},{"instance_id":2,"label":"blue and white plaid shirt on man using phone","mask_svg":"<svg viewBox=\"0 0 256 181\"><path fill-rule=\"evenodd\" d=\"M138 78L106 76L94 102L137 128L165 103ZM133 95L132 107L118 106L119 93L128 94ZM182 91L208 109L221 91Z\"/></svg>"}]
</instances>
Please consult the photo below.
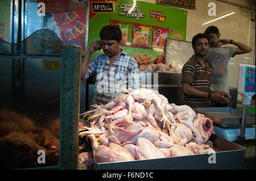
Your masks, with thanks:
<instances>
[{"instance_id":1,"label":"blue and white plaid shirt on man using phone","mask_svg":"<svg viewBox=\"0 0 256 181\"><path fill-rule=\"evenodd\" d=\"M105 105L122 94L119 86L126 89L138 89L140 86L137 62L122 49L112 65L109 65L109 57L106 54L100 54L90 61L84 79L94 72L96 83L93 103L96 104Z\"/></svg>"}]
</instances>

